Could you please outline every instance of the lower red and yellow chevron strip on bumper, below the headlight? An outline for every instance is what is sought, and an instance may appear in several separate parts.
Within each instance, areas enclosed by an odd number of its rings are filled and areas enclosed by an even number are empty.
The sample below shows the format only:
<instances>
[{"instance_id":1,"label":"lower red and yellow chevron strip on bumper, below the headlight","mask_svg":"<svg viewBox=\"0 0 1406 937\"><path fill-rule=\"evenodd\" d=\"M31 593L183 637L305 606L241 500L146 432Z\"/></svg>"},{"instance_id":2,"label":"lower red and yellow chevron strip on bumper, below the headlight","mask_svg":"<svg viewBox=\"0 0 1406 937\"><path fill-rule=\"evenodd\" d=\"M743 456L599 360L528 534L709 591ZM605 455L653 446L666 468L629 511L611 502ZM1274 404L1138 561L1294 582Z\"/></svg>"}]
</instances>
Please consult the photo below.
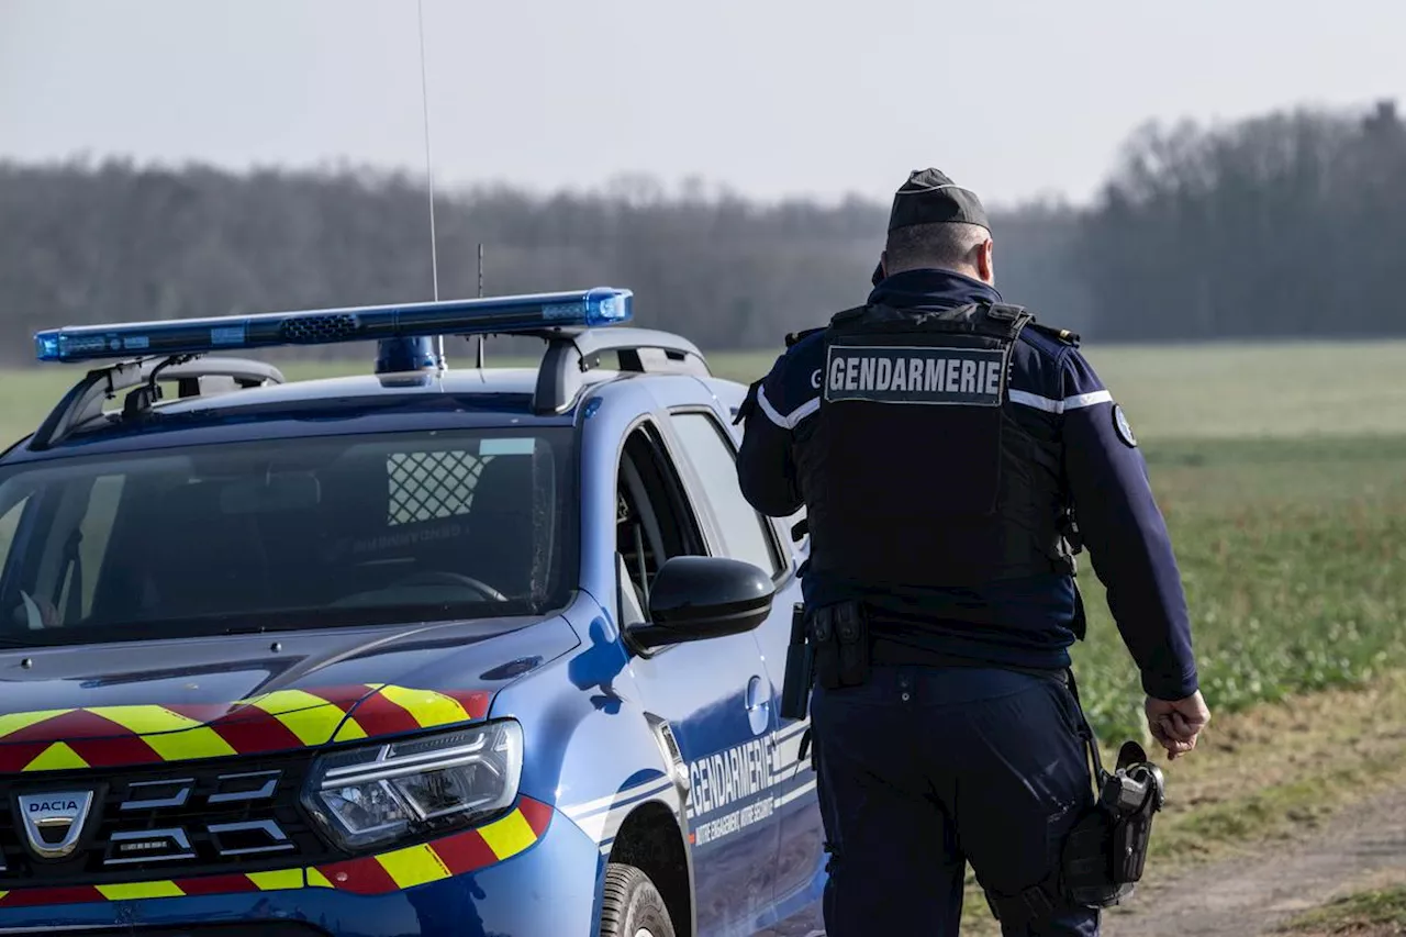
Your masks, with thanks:
<instances>
[{"instance_id":1,"label":"lower red and yellow chevron strip on bumper, below the headlight","mask_svg":"<svg viewBox=\"0 0 1406 937\"><path fill-rule=\"evenodd\" d=\"M416 885L429 885L453 875L477 872L488 865L509 860L543 837L551 823L551 815L553 809L546 803L519 798L512 813L486 826L381 855L273 872L202 875L200 878L125 882L121 885L20 888L13 892L0 892L0 907L277 892L294 888L332 888L356 895L384 895Z\"/></svg>"}]
</instances>

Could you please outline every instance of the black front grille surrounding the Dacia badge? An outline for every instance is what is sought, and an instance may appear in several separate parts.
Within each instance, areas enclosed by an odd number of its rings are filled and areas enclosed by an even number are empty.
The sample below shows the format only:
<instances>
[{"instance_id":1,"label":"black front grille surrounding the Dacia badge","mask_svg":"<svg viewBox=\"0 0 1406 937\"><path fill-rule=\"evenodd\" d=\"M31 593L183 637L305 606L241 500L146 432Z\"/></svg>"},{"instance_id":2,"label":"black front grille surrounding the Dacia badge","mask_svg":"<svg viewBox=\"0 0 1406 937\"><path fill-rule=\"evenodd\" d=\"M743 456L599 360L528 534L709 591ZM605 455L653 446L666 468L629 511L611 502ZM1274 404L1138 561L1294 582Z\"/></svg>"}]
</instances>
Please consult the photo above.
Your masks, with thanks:
<instances>
[{"instance_id":1,"label":"black front grille surrounding the Dacia badge","mask_svg":"<svg viewBox=\"0 0 1406 937\"><path fill-rule=\"evenodd\" d=\"M45 885L256 872L346 858L312 829L298 802L307 754L181 763L122 771L45 772L0 784L0 891ZM35 858L25 846L18 798L94 791L77 850Z\"/></svg>"}]
</instances>

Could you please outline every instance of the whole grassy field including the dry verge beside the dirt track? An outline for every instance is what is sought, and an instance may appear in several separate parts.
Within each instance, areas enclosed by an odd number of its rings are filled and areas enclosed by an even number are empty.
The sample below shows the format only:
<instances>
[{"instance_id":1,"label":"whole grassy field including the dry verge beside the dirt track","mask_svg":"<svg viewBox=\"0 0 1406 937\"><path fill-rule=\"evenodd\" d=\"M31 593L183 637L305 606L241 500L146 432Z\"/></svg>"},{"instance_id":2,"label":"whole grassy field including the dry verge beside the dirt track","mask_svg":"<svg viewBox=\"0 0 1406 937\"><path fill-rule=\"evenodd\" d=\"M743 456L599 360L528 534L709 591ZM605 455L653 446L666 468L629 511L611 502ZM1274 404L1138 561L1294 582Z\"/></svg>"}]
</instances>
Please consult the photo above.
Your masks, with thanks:
<instances>
[{"instance_id":1,"label":"whole grassy field including the dry verge beside the dirt track","mask_svg":"<svg viewBox=\"0 0 1406 937\"><path fill-rule=\"evenodd\" d=\"M1406 781L1406 343L1085 352L1147 457L1216 716L1197 756L1167 765L1156 888L1189 864L1310 834L1350 798ZM745 381L773 357L713 366ZM80 373L0 371L0 443L30 432ZM1143 737L1142 694L1087 557L1080 581L1091 613L1080 685L1116 747ZM994 937L970 881L967 898L963 934ZM1398 893L1364 895L1301 933L1392 927L1399 907Z\"/></svg>"}]
</instances>

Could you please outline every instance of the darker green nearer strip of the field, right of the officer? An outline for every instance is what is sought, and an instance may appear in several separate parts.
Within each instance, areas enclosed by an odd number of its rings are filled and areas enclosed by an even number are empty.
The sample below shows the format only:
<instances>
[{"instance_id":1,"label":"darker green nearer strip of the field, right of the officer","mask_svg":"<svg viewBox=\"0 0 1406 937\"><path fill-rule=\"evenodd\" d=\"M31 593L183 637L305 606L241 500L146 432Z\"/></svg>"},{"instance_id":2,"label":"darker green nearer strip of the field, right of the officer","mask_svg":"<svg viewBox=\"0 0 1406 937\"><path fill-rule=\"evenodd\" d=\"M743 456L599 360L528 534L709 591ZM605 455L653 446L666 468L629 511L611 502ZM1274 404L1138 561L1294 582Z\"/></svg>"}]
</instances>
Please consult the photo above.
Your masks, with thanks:
<instances>
[{"instance_id":1,"label":"darker green nearer strip of the field, right of the officer","mask_svg":"<svg viewBox=\"0 0 1406 937\"><path fill-rule=\"evenodd\" d=\"M1406 665L1406 438L1168 442L1149 471L1216 712ZM1087 561L1080 581L1085 705L1105 737L1137 737L1136 674Z\"/></svg>"}]
</instances>

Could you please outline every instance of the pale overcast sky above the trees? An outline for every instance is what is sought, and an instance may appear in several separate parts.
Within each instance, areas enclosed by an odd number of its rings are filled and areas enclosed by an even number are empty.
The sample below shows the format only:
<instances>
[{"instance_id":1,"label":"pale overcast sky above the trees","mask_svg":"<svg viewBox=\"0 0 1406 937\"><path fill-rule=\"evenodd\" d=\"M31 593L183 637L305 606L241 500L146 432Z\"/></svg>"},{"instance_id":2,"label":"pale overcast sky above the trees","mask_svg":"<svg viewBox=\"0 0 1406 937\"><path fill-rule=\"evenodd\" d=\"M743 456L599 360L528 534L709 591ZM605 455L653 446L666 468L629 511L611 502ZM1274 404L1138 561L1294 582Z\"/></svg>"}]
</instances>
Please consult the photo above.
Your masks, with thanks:
<instances>
[{"instance_id":1,"label":"pale overcast sky above the trees","mask_svg":"<svg viewBox=\"0 0 1406 937\"><path fill-rule=\"evenodd\" d=\"M1149 118L1406 93L1402 0L423 1L443 183L1084 200ZM416 0L0 0L0 156L422 172L420 120Z\"/></svg>"}]
</instances>

